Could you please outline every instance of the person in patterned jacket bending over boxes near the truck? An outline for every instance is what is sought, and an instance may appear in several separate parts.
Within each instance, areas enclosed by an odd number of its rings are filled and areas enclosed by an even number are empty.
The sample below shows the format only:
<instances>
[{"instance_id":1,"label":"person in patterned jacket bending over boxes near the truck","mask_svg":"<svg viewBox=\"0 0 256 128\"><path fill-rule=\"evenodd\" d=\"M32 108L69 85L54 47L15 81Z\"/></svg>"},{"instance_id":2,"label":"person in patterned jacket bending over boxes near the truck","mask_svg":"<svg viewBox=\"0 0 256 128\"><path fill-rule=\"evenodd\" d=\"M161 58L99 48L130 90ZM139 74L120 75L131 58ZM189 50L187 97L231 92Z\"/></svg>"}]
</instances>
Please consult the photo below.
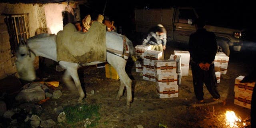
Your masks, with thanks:
<instances>
[{"instance_id":1,"label":"person in patterned jacket bending over boxes near the truck","mask_svg":"<svg viewBox=\"0 0 256 128\"><path fill-rule=\"evenodd\" d=\"M166 49L166 29L162 24L153 27L148 36L143 39L142 45L150 45L151 50L162 51L162 58L164 60L164 50Z\"/></svg>"}]
</instances>

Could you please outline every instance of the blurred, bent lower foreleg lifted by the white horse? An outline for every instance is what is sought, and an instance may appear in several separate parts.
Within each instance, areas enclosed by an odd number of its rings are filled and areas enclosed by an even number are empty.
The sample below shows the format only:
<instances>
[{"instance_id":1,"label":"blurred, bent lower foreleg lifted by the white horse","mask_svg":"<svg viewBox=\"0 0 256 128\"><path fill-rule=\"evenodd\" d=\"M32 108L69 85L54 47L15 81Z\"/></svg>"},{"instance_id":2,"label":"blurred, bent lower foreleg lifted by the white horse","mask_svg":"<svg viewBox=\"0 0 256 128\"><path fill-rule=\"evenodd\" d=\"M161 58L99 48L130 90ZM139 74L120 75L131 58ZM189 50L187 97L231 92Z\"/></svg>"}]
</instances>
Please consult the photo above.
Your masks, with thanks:
<instances>
[{"instance_id":1,"label":"blurred, bent lower foreleg lifted by the white horse","mask_svg":"<svg viewBox=\"0 0 256 128\"><path fill-rule=\"evenodd\" d=\"M63 75L62 79L63 79L63 82L68 87L68 90L70 90L71 92L75 92L77 90L76 85L74 84L74 81L73 81L72 77L70 76L68 70L66 70L64 72L64 75Z\"/></svg>"}]
</instances>

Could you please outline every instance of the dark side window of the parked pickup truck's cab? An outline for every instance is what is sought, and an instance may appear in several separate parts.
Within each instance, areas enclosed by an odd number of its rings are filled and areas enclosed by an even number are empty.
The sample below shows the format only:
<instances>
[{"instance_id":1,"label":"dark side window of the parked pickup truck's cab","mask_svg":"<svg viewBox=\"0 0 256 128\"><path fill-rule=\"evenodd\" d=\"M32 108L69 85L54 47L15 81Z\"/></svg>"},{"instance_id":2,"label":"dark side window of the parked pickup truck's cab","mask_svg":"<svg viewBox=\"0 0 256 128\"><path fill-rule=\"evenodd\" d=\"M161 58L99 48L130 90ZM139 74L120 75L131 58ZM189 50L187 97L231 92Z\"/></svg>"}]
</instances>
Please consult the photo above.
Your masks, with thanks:
<instances>
[{"instance_id":1,"label":"dark side window of the parked pickup truck's cab","mask_svg":"<svg viewBox=\"0 0 256 128\"><path fill-rule=\"evenodd\" d=\"M192 9L180 9L179 23L188 24L188 19L195 20L196 15Z\"/></svg>"}]
</instances>

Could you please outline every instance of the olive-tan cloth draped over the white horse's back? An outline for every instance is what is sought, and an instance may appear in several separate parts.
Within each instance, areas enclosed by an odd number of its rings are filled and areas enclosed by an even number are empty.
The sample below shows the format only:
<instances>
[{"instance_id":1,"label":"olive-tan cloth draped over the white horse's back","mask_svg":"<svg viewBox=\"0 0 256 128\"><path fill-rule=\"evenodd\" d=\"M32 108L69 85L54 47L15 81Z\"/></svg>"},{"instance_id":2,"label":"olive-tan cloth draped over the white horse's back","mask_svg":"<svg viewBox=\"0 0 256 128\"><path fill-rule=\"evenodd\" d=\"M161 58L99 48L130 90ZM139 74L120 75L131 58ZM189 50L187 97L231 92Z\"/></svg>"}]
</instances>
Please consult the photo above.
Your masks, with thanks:
<instances>
[{"instance_id":1,"label":"olive-tan cloth draped over the white horse's back","mask_svg":"<svg viewBox=\"0 0 256 128\"><path fill-rule=\"evenodd\" d=\"M66 24L56 36L57 61L85 64L106 61L106 26L94 22L88 32L78 32L72 23Z\"/></svg>"}]
</instances>

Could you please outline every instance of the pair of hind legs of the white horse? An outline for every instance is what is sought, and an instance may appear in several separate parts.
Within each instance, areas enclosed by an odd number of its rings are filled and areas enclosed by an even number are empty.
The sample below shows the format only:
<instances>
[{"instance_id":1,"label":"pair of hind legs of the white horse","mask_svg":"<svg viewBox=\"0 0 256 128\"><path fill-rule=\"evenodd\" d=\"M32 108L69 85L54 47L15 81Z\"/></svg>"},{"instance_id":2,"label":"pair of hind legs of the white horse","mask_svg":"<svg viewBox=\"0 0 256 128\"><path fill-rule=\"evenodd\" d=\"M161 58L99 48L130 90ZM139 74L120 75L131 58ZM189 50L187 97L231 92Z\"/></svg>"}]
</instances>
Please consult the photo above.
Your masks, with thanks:
<instances>
[{"instance_id":1,"label":"pair of hind legs of the white horse","mask_svg":"<svg viewBox=\"0 0 256 128\"><path fill-rule=\"evenodd\" d=\"M130 102L132 102L132 80L129 78L129 76L125 72L126 60L124 60L120 56L116 56L108 52L107 52L107 60L108 60L108 63L111 64L111 66L113 66L116 69L121 81L120 88L116 98L120 99L120 97L123 94L124 85L125 85L126 91L127 91L126 105L130 106Z\"/></svg>"}]
</instances>

